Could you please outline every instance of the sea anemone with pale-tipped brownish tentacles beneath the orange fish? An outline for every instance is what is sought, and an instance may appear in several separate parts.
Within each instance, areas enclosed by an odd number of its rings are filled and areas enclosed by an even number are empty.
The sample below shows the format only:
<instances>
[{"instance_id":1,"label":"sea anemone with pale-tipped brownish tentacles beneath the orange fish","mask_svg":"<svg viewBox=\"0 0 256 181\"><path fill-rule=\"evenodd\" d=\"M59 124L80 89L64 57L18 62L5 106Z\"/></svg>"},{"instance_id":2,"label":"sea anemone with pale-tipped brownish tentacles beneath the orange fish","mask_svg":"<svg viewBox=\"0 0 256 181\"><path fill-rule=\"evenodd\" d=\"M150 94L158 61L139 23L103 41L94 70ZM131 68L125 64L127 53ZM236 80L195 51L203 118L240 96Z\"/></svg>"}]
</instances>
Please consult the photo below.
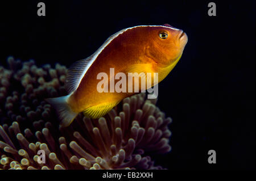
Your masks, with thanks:
<instances>
[{"instance_id":1,"label":"sea anemone with pale-tipped brownish tentacles beneath the orange fish","mask_svg":"<svg viewBox=\"0 0 256 181\"><path fill-rule=\"evenodd\" d=\"M0 169L163 169L151 157L171 150L170 117L137 94L100 119L81 113L59 129L44 99L67 94L67 68L7 59L0 66ZM39 150L46 154L40 163Z\"/></svg>"}]
</instances>

